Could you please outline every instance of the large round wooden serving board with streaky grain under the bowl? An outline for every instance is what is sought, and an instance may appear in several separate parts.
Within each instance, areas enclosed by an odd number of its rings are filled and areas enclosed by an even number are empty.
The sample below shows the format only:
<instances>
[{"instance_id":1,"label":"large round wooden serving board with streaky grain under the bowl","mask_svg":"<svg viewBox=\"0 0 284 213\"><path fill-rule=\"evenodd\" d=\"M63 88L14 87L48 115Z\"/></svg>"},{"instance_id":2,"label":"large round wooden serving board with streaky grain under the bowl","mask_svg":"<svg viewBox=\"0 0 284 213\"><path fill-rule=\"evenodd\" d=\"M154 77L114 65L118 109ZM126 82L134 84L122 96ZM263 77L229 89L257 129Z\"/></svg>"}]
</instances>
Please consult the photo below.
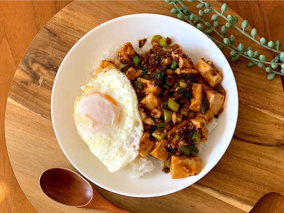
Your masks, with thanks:
<instances>
[{"instance_id":1,"label":"large round wooden serving board with streaky grain under the bowl","mask_svg":"<svg viewBox=\"0 0 284 213\"><path fill-rule=\"evenodd\" d=\"M211 3L215 8L222 5L215 0ZM184 4L198 11L196 3ZM49 167L76 171L59 147L50 115L52 85L63 58L79 38L107 20L133 13L170 15L171 8L163 0L75 0L58 12L30 44L9 91L5 135L17 180L39 212L99 212L60 206L38 185L39 175ZM228 14L237 16L240 25L241 17L230 9L225 12ZM237 44L253 44L237 30L228 31L235 35ZM266 49L253 47L270 56ZM229 51L224 54L227 57ZM267 81L265 71L245 64L245 59L230 62L238 86L238 123L226 153L204 178L182 191L156 198L121 196L92 185L130 212L249 212L264 194L284 194L284 108L277 107L284 106L282 84L278 76Z\"/></svg>"}]
</instances>

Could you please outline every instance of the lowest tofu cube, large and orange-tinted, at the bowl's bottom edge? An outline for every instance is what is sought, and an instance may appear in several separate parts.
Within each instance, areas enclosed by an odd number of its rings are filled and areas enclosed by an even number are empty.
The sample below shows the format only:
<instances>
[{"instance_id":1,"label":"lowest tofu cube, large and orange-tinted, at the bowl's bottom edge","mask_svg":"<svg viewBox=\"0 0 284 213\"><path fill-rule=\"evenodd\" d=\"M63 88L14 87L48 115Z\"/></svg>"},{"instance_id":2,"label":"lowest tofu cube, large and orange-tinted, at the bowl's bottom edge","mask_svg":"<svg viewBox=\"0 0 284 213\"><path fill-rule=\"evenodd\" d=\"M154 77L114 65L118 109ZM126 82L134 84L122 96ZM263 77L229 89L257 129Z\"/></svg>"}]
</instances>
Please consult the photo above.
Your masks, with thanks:
<instances>
[{"instance_id":1,"label":"lowest tofu cube, large and orange-tinted, at the bowl's bottom edge","mask_svg":"<svg viewBox=\"0 0 284 213\"><path fill-rule=\"evenodd\" d=\"M172 156L170 160L170 172L172 179L184 178L198 174L200 161L198 156Z\"/></svg>"}]
</instances>

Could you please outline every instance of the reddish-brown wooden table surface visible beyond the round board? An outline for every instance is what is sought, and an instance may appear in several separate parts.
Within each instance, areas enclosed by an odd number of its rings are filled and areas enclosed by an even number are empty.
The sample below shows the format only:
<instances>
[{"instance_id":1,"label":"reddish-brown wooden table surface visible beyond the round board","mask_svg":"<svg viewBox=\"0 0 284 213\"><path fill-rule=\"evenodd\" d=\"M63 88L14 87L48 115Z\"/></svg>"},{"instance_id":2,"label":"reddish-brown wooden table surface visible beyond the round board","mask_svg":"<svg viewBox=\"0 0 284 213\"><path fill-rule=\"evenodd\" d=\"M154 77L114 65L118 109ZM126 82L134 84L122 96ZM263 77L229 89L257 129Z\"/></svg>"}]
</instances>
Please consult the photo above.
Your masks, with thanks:
<instances>
[{"instance_id":1,"label":"reddish-brown wooden table surface visible beyond the round board","mask_svg":"<svg viewBox=\"0 0 284 213\"><path fill-rule=\"evenodd\" d=\"M12 171L4 138L4 112L7 95L14 72L29 43L43 25L71 0L1 1L0 4L0 67L1 67L1 141L0 141L0 209L1 212L37 212L22 192ZM248 19L251 27L267 40L284 41L283 4L273 0L222 0L242 18ZM248 3L249 2L249 3ZM162 2L164 4L164 2ZM265 80L265 79L264 79ZM280 106L281 107L281 106ZM276 184L276 183L275 183ZM259 203L265 206L256 212L282 212L283 197L269 194ZM281 204L280 204L281 203ZM3 210L4 209L4 210Z\"/></svg>"}]
</instances>

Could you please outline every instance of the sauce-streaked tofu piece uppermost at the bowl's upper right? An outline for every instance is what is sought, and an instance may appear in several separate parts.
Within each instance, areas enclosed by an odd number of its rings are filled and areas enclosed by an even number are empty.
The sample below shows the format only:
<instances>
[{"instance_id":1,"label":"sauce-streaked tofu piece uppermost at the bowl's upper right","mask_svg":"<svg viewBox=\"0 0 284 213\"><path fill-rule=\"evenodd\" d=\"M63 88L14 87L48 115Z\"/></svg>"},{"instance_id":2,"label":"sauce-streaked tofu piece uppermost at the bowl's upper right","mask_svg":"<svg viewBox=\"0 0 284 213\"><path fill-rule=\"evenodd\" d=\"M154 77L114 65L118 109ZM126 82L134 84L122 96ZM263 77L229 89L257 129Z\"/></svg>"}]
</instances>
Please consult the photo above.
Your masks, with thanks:
<instances>
[{"instance_id":1,"label":"sauce-streaked tofu piece uppermost at the bowl's upper right","mask_svg":"<svg viewBox=\"0 0 284 213\"><path fill-rule=\"evenodd\" d=\"M207 64L204 60L200 59L196 62L194 68L200 72L202 77L208 81L208 83L214 87L216 84L220 83L223 78L218 72L213 72L213 68Z\"/></svg>"}]
</instances>

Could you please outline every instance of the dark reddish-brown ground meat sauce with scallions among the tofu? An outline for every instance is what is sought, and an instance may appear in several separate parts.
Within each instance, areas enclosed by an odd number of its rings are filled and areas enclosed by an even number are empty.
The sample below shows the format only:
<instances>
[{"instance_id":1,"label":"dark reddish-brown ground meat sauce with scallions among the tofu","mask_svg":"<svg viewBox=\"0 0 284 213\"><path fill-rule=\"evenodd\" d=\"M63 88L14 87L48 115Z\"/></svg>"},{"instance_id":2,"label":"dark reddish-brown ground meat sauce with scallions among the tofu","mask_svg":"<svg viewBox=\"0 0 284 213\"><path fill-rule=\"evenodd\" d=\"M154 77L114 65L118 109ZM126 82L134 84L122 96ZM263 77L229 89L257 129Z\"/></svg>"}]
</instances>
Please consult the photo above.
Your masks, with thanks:
<instances>
[{"instance_id":1,"label":"dark reddish-brown ground meat sauce with scallions among the tofu","mask_svg":"<svg viewBox=\"0 0 284 213\"><path fill-rule=\"evenodd\" d=\"M145 42L146 39L139 40L139 48L141 48L145 44ZM167 43L171 43L170 38L167 38ZM181 70L179 69L178 61L176 61L177 65L172 68L171 64L174 60L172 52L179 48L178 44L168 46L167 50L158 45L158 41L154 40L153 46L148 52L144 52L140 55L135 52L135 56L140 59L137 64L133 62L134 60L130 60L128 62L123 59L120 60L122 64L125 64L125 67L121 71L125 73L131 67L134 68L137 73L141 71L141 75L138 76L139 78L147 79L150 81L151 86L158 86L161 89L158 96L161 99L162 104L155 108L156 110L158 110L158 112L161 112L161 116L157 116L157 112L153 112L153 110L148 110L141 103L139 103L138 107L140 112L145 113L147 118L151 118L154 121L155 125L149 125L144 123L144 131L150 134L150 139L153 139L152 133L154 131L166 133L167 147L164 150L165 152L176 156L196 155L198 153L198 150L197 152L193 151L188 154L184 151L184 149L180 149L181 146L195 146L196 143L200 142L200 137L202 141L202 130L200 128L196 129L191 119L196 117L197 114L204 114L204 112L195 112L189 110L191 106L191 98L193 97L193 83L206 84L209 87L206 89L207 91L214 90L224 96L225 90L220 84L215 85L214 88L211 87L199 72L194 75L181 72ZM180 57L188 58L188 56L184 54L181 49L179 50L182 52L180 54ZM212 65L212 76L215 76L219 73L222 77L222 72L218 71L211 61L208 62L208 64ZM141 88L136 87L135 83L138 77L136 77L134 80L131 80L131 83L137 93L138 101L140 102L146 96L146 93L145 91L143 91L143 88L148 88L149 85L143 83ZM182 87L181 84L183 84ZM205 97L204 90L203 97ZM168 102L169 99L172 99L177 104L179 104L178 111L174 112L173 110L169 109L168 106L163 106L163 104ZM206 101L208 103L207 99ZM171 119L167 122L165 121L165 110L170 111L171 113ZM218 117L218 115L222 111L223 108L221 108L217 114L214 114L214 117ZM198 141L196 141L196 136L194 138L194 134L197 135ZM168 173L169 171L170 169L168 167L163 168L163 172Z\"/></svg>"}]
</instances>

